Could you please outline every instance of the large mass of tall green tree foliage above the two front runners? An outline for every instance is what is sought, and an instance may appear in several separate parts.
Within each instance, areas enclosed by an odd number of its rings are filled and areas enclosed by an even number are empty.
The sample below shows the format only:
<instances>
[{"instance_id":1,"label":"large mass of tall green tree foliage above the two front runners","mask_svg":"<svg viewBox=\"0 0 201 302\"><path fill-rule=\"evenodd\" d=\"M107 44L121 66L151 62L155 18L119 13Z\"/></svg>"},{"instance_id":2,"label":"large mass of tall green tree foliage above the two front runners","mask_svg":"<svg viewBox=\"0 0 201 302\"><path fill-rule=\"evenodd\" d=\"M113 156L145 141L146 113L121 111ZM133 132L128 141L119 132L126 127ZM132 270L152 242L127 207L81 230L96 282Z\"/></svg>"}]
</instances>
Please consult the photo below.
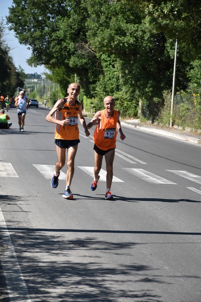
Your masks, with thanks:
<instances>
[{"instance_id":1,"label":"large mass of tall green tree foliage above the two front runners","mask_svg":"<svg viewBox=\"0 0 201 302\"><path fill-rule=\"evenodd\" d=\"M200 60L200 13L196 0L14 0L8 23L63 93L76 74L95 109L113 95L134 117L142 100L154 121L172 87L175 40L177 91Z\"/></svg>"}]
</instances>

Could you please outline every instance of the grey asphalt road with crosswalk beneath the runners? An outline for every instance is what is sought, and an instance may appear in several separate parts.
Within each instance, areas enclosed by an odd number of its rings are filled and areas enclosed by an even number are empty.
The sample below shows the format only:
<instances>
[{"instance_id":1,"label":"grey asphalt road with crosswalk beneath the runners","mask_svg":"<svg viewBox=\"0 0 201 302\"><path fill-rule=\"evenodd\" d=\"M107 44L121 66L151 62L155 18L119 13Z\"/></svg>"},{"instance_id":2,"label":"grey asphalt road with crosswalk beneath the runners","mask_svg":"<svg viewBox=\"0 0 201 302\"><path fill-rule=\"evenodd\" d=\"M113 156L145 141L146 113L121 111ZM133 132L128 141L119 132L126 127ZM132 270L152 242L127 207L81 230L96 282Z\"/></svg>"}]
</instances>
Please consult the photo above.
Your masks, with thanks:
<instances>
[{"instance_id":1,"label":"grey asphalt road with crosswalk beneath the runners","mask_svg":"<svg viewBox=\"0 0 201 302\"><path fill-rule=\"evenodd\" d=\"M66 168L50 186L47 113L30 108L19 132L12 109L12 128L0 129L2 300L200 302L201 146L124 126L108 201L105 162L90 190L93 144L79 126L66 200Z\"/></svg>"}]
</instances>

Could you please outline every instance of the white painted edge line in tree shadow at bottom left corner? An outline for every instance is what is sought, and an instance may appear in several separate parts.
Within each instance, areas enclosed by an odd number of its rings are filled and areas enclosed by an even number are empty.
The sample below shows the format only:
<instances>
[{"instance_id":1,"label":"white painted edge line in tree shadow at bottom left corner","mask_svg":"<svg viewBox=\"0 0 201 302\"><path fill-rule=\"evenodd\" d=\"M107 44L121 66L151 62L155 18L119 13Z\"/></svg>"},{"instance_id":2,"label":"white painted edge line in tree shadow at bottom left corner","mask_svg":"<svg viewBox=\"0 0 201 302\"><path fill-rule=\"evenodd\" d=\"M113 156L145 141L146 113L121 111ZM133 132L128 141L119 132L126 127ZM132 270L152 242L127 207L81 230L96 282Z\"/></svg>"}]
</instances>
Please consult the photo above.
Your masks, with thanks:
<instances>
[{"instance_id":1,"label":"white painted edge line in tree shadow at bottom left corner","mask_svg":"<svg viewBox=\"0 0 201 302\"><path fill-rule=\"evenodd\" d=\"M3 243L8 247L1 257L1 262L3 265L9 297L11 301L31 302L1 208L0 226L2 228L1 234L3 237ZM18 290L16 290L16 288L18 288Z\"/></svg>"}]
</instances>

